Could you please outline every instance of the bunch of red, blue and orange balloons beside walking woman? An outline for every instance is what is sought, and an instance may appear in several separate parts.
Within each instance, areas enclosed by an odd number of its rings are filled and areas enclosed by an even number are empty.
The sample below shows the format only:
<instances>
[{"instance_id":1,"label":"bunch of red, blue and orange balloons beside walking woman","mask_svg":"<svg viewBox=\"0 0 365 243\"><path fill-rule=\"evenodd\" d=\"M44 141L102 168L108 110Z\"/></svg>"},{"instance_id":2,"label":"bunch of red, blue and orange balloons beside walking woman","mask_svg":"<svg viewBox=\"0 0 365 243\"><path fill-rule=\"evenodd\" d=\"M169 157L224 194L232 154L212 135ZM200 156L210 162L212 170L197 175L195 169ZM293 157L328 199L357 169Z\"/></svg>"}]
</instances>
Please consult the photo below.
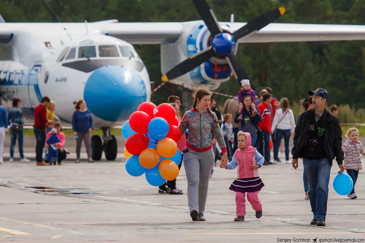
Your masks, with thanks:
<instances>
[{"instance_id":1,"label":"bunch of red, blue and orange balloons beside walking woman","mask_svg":"<svg viewBox=\"0 0 365 243\"><path fill-rule=\"evenodd\" d=\"M172 105L142 103L123 124L122 135L126 139L124 156L129 175L145 174L153 186L176 179L181 162L176 142L181 139L181 131Z\"/></svg>"}]
</instances>

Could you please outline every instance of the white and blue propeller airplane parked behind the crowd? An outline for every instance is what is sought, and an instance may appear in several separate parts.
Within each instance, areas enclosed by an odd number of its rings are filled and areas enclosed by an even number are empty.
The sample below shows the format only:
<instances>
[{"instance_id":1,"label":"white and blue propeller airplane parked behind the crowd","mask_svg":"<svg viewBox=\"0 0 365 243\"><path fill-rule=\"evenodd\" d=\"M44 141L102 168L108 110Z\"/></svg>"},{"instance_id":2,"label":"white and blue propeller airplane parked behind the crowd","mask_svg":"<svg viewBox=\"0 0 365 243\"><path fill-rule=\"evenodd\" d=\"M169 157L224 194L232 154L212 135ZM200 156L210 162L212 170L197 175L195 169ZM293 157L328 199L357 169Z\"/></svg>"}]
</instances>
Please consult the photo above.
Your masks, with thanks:
<instances>
[{"instance_id":1,"label":"white and blue propeller airplane parked behind the crowd","mask_svg":"<svg viewBox=\"0 0 365 243\"><path fill-rule=\"evenodd\" d=\"M6 23L0 15L3 106L9 109L18 97L23 116L32 118L47 95L57 103L58 117L71 123L74 104L84 99L95 128L103 131L101 138L92 136L93 160L100 160L103 151L107 160L115 160L118 145L110 128L122 125L151 97L147 68L132 44L161 45L164 81L214 90L232 73L238 81L247 75L235 56L239 43L365 39L365 26L271 23L284 8L248 23L234 22L233 16L218 22L205 0L193 3L203 20Z\"/></svg>"}]
</instances>

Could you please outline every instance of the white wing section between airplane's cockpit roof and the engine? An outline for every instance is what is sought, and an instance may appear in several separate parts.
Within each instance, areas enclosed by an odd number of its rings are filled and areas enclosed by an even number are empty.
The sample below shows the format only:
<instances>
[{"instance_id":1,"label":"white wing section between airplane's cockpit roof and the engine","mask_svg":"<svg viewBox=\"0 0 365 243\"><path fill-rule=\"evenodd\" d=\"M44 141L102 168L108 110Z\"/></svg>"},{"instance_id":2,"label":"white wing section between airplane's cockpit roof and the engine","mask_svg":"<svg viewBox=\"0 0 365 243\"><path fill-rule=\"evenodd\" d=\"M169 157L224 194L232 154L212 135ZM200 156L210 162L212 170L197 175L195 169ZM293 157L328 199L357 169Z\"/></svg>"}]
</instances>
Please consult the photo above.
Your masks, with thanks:
<instances>
[{"instance_id":1,"label":"white wing section between airplane's cockpit roof and the engine","mask_svg":"<svg viewBox=\"0 0 365 243\"><path fill-rule=\"evenodd\" d=\"M183 31L180 22L175 23L107 23L100 28L107 34L131 44L173 43Z\"/></svg>"}]
</instances>

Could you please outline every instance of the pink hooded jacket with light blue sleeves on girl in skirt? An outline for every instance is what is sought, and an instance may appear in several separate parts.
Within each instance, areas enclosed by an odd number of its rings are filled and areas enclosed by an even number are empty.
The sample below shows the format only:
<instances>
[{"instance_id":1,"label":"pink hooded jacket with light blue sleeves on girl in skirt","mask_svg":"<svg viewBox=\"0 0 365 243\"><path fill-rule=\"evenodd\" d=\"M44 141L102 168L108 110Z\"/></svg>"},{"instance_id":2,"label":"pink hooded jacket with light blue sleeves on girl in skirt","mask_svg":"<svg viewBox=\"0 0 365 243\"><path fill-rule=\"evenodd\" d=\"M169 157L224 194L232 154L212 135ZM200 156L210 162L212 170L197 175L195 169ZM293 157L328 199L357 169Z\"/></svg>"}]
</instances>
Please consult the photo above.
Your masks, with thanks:
<instances>
[{"instance_id":1,"label":"pink hooded jacket with light blue sleeves on girl in skirt","mask_svg":"<svg viewBox=\"0 0 365 243\"><path fill-rule=\"evenodd\" d=\"M227 169L235 169L238 165L237 178L258 177L258 169L253 170L252 165L264 164L264 157L257 152L256 148L251 146L250 133L243 133L246 136L246 148L244 150L237 149L231 162L227 164Z\"/></svg>"}]
</instances>

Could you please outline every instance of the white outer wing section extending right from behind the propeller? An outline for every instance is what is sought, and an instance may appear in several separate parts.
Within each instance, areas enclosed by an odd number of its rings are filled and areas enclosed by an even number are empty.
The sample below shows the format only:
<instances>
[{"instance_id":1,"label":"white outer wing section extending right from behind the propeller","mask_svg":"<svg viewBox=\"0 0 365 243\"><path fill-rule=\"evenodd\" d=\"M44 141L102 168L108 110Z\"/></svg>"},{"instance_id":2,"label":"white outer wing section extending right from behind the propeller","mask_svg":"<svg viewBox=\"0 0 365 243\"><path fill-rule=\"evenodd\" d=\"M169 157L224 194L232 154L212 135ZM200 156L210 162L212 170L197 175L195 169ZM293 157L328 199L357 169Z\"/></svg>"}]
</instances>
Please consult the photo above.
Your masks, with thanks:
<instances>
[{"instance_id":1,"label":"white outer wing section extending right from behind the propeller","mask_svg":"<svg viewBox=\"0 0 365 243\"><path fill-rule=\"evenodd\" d=\"M233 31L246 23L225 23ZM280 24L271 23L258 32L238 40L239 43L300 42L330 40L365 40L365 26L345 24Z\"/></svg>"}]
</instances>

